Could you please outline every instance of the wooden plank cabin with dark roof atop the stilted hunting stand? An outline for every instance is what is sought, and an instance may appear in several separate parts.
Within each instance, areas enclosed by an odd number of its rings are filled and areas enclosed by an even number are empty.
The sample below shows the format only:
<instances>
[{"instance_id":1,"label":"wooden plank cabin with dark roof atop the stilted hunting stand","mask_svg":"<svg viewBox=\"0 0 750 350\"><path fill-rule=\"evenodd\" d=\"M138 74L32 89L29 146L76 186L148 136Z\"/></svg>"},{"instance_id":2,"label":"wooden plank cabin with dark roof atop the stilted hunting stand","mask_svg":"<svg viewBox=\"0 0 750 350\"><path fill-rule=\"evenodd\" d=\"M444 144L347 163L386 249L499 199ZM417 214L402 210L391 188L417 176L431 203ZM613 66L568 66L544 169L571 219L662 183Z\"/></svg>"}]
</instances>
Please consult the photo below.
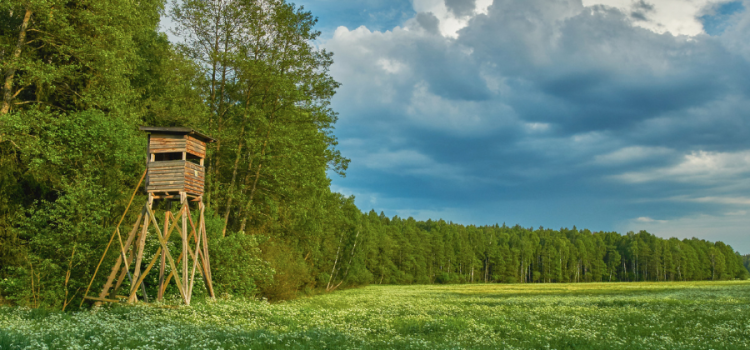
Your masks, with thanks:
<instances>
[{"instance_id":1,"label":"wooden plank cabin with dark roof atop the stilted hunting stand","mask_svg":"<svg viewBox=\"0 0 750 350\"><path fill-rule=\"evenodd\" d=\"M144 126L141 131L150 132L146 192L169 198L180 192L203 196L206 143L214 139L182 127Z\"/></svg>"}]
</instances>

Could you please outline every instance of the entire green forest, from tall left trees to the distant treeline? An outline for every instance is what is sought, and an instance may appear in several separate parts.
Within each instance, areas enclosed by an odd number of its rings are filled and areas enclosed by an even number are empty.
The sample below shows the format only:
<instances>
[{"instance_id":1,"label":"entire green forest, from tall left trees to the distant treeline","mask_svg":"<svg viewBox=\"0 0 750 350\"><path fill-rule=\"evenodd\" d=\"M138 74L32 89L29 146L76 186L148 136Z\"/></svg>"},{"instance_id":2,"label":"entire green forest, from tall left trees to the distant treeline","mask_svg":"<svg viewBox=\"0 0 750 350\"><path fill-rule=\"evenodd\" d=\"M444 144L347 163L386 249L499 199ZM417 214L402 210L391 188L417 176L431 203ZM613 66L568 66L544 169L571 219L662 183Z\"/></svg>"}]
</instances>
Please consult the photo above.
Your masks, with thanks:
<instances>
[{"instance_id":1,"label":"entire green forest, from tall left trees to the distant treeline","mask_svg":"<svg viewBox=\"0 0 750 350\"><path fill-rule=\"evenodd\" d=\"M204 202L219 295L750 277L747 256L721 242L363 212L330 189L350 160L316 22L284 0L1 2L0 304L78 307L144 173L146 125L218 140Z\"/></svg>"}]
</instances>

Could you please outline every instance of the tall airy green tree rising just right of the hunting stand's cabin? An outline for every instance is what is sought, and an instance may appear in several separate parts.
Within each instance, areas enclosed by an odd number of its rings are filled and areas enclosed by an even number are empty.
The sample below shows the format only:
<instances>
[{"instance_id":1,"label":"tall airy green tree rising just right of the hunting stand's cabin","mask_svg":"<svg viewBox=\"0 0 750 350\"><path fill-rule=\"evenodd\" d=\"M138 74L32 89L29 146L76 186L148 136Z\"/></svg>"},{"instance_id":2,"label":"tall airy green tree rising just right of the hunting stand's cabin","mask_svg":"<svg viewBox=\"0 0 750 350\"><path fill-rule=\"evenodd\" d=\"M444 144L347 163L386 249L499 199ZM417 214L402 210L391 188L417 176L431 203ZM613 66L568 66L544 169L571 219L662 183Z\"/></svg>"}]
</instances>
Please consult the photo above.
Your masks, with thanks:
<instances>
[{"instance_id":1,"label":"tall airy green tree rising just right of the hunting stand's cabin","mask_svg":"<svg viewBox=\"0 0 750 350\"><path fill-rule=\"evenodd\" d=\"M335 150L329 75L332 54L313 46L320 32L303 8L280 0L175 3L181 47L209 79L209 130L222 139L210 155L208 205L245 231L276 217L281 202L327 188L325 170L343 174ZM215 204L214 204L215 203Z\"/></svg>"}]
</instances>

